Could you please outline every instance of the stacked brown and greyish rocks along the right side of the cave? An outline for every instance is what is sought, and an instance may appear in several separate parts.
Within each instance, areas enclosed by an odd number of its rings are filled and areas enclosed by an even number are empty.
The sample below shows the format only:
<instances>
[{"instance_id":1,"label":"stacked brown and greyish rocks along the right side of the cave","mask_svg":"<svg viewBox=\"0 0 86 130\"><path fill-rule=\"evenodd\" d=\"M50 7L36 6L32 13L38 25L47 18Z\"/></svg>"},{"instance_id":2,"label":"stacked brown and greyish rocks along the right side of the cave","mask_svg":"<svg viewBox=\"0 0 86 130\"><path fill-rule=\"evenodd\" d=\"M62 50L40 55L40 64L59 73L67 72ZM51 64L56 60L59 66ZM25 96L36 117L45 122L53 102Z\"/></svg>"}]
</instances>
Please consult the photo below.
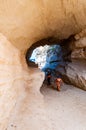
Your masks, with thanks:
<instances>
[{"instance_id":1,"label":"stacked brown and greyish rocks along the right side of the cave","mask_svg":"<svg viewBox=\"0 0 86 130\"><path fill-rule=\"evenodd\" d=\"M65 48L71 50L67 58L71 59L71 63L60 69L64 80L86 90L86 37L78 34L76 39L72 39ZM80 37L80 35L82 37Z\"/></svg>"}]
</instances>

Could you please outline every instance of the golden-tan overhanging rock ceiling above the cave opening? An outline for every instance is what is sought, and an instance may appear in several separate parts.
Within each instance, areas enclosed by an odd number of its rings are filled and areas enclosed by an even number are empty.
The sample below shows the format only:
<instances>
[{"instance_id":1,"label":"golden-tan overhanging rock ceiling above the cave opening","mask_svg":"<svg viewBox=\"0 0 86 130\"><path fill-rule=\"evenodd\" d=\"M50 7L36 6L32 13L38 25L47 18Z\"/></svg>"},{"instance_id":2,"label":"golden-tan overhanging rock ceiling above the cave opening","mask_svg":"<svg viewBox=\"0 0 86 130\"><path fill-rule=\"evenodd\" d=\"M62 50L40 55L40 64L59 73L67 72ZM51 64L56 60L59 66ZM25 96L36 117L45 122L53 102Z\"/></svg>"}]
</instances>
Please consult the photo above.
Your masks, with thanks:
<instances>
[{"instance_id":1,"label":"golden-tan overhanging rock ceiling above the cave opening","mask_svg":"<svg viewBox=\"0 0 86 130\"><path fill-rule=\"evenodd\" d=\"M0 1L0 32L20 50L46 37L68 38L85 27L85 0Z\"/></svg>"}]
</instances>

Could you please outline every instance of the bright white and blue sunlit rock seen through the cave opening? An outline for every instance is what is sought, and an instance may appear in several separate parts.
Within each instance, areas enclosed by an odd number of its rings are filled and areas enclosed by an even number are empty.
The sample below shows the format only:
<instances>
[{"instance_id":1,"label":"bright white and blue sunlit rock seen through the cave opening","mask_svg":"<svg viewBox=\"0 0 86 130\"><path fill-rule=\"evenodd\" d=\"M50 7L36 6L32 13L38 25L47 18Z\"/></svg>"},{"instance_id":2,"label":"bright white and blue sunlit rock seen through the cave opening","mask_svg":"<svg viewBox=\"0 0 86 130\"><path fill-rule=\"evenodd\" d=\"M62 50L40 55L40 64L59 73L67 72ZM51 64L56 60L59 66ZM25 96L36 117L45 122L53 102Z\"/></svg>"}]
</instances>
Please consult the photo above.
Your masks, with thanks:
<instances>
[{"instance_id":1,"label":"bright white and blue sunlit rock seen through the cave opening","mask_svg":"<svg viewBox=\"0 0 86 130\"><path fill-rule=\"evenodd\" d=\"M59 63L63 62L62 48L57 44L39 46L33 50L28 62L35 63L44 72L55 70Z\"/></svg>"}]
</instances>

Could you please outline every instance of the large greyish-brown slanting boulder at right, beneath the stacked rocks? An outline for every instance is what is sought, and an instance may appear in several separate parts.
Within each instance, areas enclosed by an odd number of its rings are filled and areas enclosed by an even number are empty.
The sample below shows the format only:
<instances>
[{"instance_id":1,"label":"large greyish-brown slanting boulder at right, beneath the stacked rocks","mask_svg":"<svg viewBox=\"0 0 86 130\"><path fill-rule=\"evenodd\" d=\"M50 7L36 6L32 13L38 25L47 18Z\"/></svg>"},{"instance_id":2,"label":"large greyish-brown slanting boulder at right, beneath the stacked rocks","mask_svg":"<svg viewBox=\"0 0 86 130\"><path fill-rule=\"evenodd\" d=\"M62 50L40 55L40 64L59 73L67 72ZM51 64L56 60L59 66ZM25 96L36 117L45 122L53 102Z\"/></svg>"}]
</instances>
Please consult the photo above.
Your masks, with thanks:
<instances>
[{"instance_id":1,"label":"large greyish-brown slanting boulder at right, beneath the stacked rocks","mask_svg":"<svg viewBox=\"0 0 86 130\"><path fill-rule=\"evenodd\" d=\"M62 70L63 79L83 90L86 90L86 61L75 60L67 64L65 71Z\"/></svg>"}]
</instances>

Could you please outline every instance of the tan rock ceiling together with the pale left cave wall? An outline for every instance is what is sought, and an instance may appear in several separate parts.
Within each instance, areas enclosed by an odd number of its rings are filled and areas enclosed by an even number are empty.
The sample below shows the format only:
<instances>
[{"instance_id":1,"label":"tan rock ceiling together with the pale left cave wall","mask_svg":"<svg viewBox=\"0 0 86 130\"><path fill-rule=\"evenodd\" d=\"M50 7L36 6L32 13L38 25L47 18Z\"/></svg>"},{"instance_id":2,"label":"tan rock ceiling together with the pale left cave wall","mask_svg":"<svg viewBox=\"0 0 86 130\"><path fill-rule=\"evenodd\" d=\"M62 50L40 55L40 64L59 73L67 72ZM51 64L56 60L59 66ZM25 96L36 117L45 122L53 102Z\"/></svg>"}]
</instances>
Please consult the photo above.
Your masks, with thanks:
<instances>
[{"instance_id":1,"label":"tan rock ceiling together with the pale left cave wall","mask_svg":"<svg viewBox=\"0 0 86 130\"><path fill-rule=\"evenodd\" d=\"M43 75L27 68L26 50L42 38L66 39L85 27L86 0L0 0L0 130L52 130L41 112Z\"/></svg>"}]
</instances>

